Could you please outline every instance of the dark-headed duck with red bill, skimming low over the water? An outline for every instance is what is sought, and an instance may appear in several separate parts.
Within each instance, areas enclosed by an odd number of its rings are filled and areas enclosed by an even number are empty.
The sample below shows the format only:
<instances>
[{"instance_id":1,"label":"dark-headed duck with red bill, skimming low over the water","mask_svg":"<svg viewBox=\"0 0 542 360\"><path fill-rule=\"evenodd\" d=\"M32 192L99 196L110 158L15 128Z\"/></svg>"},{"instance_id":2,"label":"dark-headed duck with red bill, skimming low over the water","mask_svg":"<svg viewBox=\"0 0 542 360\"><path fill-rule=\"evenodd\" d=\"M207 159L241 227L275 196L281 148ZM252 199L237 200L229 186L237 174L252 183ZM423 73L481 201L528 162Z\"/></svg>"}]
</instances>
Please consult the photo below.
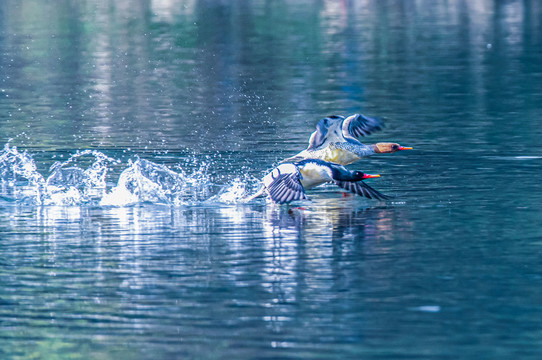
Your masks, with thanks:
<instances>
[{"instance_id":1,"label":"dark-headed duck with red bill, skimming low over the water","mask_svg":"<svg viewBox=\"0 0 542 360\"><path fill-rule=\"evenodd\" d=\"M305 159L295 163L279 164L262 179L263 187L248 200L267 192L277 204L296 200L307 200L305 190L332 182L338 187L368 199L386 200L390 197L373 189L362 180L378 178L380 175L352 171L343 165L320 159Z\"/></svg>"}]
</instances>

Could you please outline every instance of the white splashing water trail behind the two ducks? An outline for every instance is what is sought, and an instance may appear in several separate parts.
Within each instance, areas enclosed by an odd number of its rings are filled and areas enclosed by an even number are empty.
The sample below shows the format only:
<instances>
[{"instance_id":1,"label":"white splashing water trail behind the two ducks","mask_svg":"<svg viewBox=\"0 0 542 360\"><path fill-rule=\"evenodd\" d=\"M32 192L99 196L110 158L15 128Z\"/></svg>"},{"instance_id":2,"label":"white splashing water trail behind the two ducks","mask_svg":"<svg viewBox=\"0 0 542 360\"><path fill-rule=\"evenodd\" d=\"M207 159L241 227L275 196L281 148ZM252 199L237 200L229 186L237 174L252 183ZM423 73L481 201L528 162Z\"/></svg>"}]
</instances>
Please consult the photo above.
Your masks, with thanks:
<instances>
[{"instance_id":1,"label":"white splashing water trail behind the two ducks","mask_svg":"<svg viewBox=\"0 0 542 360\"><path fill-rule=\"evenodd\" d=\"M8 143L0 153L0 202L64 206L231 204L242 202L258 186L258 179L248 175L225 184L214 183L209 175L211 165L207 159L187 173L139 157L123 164L100 151L84 150L64 162L55 162L43 176L30 154ZM108 183L113 168L121 172L116 183Z\"/></svg>"}]
</instances>

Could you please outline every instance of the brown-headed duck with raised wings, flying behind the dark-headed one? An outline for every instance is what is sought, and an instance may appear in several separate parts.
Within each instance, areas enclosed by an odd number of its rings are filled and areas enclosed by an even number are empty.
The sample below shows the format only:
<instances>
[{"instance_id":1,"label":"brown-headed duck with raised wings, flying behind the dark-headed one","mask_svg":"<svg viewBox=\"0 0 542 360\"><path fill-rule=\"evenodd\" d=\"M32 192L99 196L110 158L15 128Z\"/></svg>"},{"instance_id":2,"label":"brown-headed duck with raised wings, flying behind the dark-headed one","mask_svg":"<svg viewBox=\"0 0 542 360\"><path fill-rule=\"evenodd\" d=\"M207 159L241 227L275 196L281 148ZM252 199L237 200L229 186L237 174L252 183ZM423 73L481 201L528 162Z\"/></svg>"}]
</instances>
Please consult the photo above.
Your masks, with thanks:
<instances>
[{"instance_id":1,"label":"brown-headed duck with raised wings, flying behind the dark-headed one","mask_svg":"<svg viewBox=\"0 0 542 360\"><path fill-rule=\"evenodd\" d=\"M281 163L320 159L339 165L349 165L373 154L389 154L413 149L390 142L365 145L356 139L380 131L383 126L381 119L362 114L354 114L346 118L340 115L325 117L318 122L316 131L311 134L308 148L282 160Z\"/></svg>"}]
</instances>

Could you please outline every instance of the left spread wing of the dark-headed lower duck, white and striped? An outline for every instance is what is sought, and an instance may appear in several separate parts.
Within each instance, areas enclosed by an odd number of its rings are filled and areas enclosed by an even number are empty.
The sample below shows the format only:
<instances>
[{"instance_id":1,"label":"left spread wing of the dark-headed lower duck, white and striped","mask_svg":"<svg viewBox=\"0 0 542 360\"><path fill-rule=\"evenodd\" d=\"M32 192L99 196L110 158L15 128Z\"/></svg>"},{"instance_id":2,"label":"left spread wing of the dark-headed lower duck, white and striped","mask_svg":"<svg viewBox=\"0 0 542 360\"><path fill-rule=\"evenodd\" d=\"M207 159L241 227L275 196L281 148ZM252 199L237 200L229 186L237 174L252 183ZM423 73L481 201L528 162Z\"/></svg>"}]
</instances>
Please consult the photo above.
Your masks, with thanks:
<instances>
[{"instance_id":1,"label":"left spread wing of the dark-headed lower duck, white and striped","mask_svg":"<svg viewBox=\"0 0 542 360\"><path fill-rule=\"evenodd\" d=\"M294 164L281 164L264 176L263 183L269 197L277 204L307 199L301 185L301 174Z\"/></svg>"}]
</instances>

